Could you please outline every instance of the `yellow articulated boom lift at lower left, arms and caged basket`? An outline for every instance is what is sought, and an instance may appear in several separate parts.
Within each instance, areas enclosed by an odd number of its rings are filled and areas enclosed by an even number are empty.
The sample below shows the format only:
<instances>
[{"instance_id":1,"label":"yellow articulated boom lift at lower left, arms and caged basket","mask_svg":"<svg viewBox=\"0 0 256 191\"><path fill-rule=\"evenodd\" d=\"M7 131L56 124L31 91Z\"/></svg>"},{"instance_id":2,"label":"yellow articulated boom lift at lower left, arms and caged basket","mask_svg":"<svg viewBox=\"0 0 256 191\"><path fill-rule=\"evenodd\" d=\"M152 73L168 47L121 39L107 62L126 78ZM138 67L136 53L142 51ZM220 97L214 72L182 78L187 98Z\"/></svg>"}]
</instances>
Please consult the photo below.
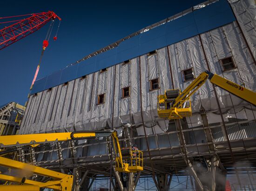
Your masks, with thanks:
<instances>
[{"instance_id":1,"label":"yellow articulated boom lift at lower left, arms and caged basket","mask_svg":"<svg viewBox=\"0 0 256 191\"><path fill-rule=\"evenodd\" d=\"M7 135L0 136L1 149L17 146L38 146L44 143L66 141L66 140L81 140L88 138L109 137L113 138L115 150L115 170L118 172L138 172L143 170L143 155L141 151L126 148L129 152L126 153L126 158L122 157L122 149L119 144L117 132L110 131L78 131L71 133L49 133L49 134L23 134L23 135ZM13 152L13 149L4 150L1 154ZM26 178L18 178L16 176L0 173L0 180L6 182L16 182L22 185L0 185L0 190L13 189L15 191L39 191L40 188L51 188L58 191L71 191L73 185L73 176L55 172L39 166L29 165L16 160L0 157L0 166L9 169L20 169L28 171L34 175L46 176L51 178L51 181L37 182Z\"/></svg>"}]
</instances>

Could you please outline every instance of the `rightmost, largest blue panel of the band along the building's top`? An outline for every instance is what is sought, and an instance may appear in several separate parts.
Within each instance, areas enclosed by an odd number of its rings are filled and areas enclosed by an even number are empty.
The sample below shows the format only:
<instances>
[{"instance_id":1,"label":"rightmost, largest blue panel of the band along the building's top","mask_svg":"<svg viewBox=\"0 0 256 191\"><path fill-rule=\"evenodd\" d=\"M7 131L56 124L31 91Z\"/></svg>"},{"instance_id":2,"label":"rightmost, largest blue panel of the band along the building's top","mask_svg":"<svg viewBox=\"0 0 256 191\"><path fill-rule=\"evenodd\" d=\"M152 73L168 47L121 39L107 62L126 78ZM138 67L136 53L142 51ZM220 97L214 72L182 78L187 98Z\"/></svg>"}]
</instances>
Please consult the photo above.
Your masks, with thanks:
<instances>
[{"instance_id":1,"label":"rightmost, largest blue panel of the band along the building's top","mask_svg":"<svg viewBox=\"0 0 256 191\"><path fill-rule=\"evenodd\" d=\"M213 3L193 13L198 33L207 32L236 20L226 0L219 0L217 3Z\"/></svg>"}]
</instances>

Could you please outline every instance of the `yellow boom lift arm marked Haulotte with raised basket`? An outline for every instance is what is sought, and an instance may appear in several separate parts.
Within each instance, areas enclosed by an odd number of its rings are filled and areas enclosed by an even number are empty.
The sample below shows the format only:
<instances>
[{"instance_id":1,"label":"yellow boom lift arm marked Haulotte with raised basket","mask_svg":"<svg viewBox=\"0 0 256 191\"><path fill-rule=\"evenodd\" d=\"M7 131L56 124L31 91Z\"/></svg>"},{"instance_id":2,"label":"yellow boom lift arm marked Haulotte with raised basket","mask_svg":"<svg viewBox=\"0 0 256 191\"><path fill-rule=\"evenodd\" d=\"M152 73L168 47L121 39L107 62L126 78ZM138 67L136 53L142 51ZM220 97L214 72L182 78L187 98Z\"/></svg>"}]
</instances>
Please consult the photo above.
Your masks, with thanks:
<instances>
[{"instance_id":1,"label":"yellow boom lift arm marked Haulotte with raised basket","mask_svg":"<svg viewBox=\"0 0 256 191\"><path fill-rule=\"evenodd\" d=\"M157 97L158 116L169 120L192 116L190 96L192 96L207 79L214 85L256 105L255 92L206 70L197 76L184 91L181 92L180 89L167 89L164 95L159 95Z\"/></svg>"}]
</instances>

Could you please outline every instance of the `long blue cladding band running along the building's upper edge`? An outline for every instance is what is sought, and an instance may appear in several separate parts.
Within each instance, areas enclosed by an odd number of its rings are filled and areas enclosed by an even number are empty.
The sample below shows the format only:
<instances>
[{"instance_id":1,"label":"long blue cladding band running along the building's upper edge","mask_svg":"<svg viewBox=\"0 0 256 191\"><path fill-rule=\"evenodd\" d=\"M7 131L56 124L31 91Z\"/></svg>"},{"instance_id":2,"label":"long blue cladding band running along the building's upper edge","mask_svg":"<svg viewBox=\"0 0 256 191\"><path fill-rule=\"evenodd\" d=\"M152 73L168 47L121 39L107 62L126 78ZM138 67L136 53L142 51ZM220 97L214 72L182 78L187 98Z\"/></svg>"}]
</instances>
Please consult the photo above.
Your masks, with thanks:
<instances>
[{"instance_id":1,"label":"long blue cladding band running along the building's upper edge","mask_svg":"<svg viewBox=\"0 0 256 191\"><path fill-rule=\"evenodd\" d=\"M149 51L177 43L202 32L231 23L234 20L235 17L228 2L226 0L219 0L209 6L151 29L148 32L143 32L129 38L121 42L118 47L91 57L75 65L75 67L73 66L74 68L66 68L63 70L62 76L61 71L58 71L49 75L46 82L44 81L45 79L37 80L31 94L119 64L125 60L146 54Z\"/></svg>"}]
</instances>

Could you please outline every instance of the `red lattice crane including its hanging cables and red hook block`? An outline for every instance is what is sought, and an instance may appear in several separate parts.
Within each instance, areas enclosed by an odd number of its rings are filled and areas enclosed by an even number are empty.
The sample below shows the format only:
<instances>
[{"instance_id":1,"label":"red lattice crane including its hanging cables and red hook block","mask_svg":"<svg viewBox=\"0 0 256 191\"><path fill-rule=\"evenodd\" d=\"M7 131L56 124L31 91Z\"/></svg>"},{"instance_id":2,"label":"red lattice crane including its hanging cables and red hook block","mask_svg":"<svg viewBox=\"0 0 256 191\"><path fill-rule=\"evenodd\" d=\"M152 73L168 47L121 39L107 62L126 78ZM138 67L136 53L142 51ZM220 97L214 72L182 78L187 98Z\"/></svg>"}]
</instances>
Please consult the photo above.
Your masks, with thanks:
<instances>
[{"instance_id":1,"label":"red lattice crane including its hanging cables and red hook block","mask_svg":"<svg viewBox=\"0 0 256 191\"><path fill-rule=\"evenodd\" d=\"M18 19L18 20L0 22L0 24L16 22L13 25L10 25L3 29L0 29L0 50L19 41L21 38L27 37L28 35L32 34L33 32L36 32L47 22L51 21L46 38L43 41L43 50L41 52L40 61L37 66L37 69L36 69L36 72L34 75L34 79L32 81L31 87L30 87L30 89L32 89L34 81L36 80L36 77L37 77L37 74L38 74L38 71L40 68L40 63L42 60L43 53L49 44L48 40L49 40L51 32L53 30L54 20L57 18L57 19L59 19L59 21L61 21L61 18L58 15L56 15L56 13L54 13L53 11L48 11L48 12L42 12L42 13L17 15L17 16L11 16L11 17L0 17L0 19L10 19L10 18L14 18L14 17L23 17L23 16L28 16L28 15L31 15L31 16L26 19ZM57 32L59 30L60 24L61 23L59 23ZM56 32L56 35L57 35L57 32ZM57 39L56 35L54 36L54 40Z\"/></svg>"}]
</instances>

